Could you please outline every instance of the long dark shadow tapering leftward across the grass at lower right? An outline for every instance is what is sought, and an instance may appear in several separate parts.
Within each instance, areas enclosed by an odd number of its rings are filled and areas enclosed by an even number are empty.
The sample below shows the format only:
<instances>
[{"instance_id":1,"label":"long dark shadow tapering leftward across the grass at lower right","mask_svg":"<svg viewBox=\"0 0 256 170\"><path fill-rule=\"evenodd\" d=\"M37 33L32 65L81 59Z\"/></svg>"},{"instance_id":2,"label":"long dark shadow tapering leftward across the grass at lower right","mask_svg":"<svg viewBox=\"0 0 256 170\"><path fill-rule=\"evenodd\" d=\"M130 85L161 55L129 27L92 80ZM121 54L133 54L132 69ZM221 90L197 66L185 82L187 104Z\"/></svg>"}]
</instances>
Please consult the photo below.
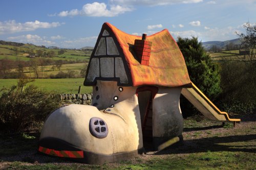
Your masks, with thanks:
<instances>
[{"instance_id":1,"label":"long dark shadow tapering leftward across the grass at lower right","mask_svg":"<svg viewBox=\"0 0 256 170\"><path fill-rule=\"evenodd\" d=\"M154 155L165 154L189 154L199 152L217 152L217 151L229 151L229 152L249 152L255 153L256 135L234 135L224 137L210 137L200 139L184 140L180 143L176 143L165 150L159 151ZM254 140L254 141L253 141ZM244 142L247 142L244 144Z\"/></svg>"}]
</instances>

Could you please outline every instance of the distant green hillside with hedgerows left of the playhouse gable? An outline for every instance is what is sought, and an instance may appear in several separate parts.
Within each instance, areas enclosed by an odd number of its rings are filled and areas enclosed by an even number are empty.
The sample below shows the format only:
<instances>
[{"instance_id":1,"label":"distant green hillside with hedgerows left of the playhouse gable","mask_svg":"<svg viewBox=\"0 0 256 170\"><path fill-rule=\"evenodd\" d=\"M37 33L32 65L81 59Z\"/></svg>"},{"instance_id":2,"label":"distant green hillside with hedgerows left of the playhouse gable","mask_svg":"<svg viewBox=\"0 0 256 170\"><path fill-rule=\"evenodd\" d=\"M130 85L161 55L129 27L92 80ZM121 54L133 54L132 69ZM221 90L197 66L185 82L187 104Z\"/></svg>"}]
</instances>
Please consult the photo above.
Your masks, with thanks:
<instances>
[{"instance_id":1,"label":"distant green hillside with hedgerows left of the playhouse gable","mask_svg":"<svg viewBox=\"0 0 256 170\"><path fill-rule=\"evenodd\" d=\"M62 49L57 46L46 47L44 45L38 46L0 40L0 60L8 59L11 61L27 62L31 58L41 57L53 61L61 60L63 63L84 63L89 61L91 53L92 50Z\"/></svg>"}]
</instances>

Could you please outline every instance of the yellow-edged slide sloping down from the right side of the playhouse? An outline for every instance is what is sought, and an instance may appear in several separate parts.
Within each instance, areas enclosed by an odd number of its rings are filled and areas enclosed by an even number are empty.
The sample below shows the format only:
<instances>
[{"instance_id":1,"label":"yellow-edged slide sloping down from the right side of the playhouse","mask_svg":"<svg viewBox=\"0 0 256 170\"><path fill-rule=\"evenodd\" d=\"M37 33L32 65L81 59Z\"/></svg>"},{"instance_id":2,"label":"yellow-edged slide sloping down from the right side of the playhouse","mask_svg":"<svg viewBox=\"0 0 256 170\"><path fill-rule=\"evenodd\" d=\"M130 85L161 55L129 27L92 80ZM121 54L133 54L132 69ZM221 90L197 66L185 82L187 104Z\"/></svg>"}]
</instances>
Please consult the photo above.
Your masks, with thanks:
<instances>
[{"instance_id":1,"label":"yellow-edged slide sloping down from the right side of the playhouse","mask_svg":"<svg viewBox=\"0 0 256 170\"><path fill-rule=\"evenodd\" d=\"M211 120L219 120L221 122L231 121L240 122L241 119L229 118L227 112L218 109L197 86L192 83L192 88L183 88L181 93L185 98L193 104L205 117Z\"/></svg>"}]
</instances>

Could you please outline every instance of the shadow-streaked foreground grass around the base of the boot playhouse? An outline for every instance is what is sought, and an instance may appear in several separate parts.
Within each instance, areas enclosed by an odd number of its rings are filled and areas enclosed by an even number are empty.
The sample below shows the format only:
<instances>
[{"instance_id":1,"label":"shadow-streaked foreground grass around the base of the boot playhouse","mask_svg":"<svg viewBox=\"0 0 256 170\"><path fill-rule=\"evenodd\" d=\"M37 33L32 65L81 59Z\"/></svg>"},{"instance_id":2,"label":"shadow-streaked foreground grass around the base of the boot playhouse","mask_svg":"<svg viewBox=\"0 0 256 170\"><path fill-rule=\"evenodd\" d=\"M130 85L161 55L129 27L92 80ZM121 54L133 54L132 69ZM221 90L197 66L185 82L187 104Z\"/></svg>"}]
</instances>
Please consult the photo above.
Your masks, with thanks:
<instances>
[{"instance_id":1,"label":"shadow-streaked foreground grass around the base of the boot playhouse","mask_svg":"<svg viewBox=\"0 0 256 170\"><path fill-rule=\"evenodd\" d=\"M0 134L0 169L256 169L256 114L235 128L202 117L184 119L184 141L116 163L88 165L38 154L39 132Z\"/></svg>"}]
</instances>

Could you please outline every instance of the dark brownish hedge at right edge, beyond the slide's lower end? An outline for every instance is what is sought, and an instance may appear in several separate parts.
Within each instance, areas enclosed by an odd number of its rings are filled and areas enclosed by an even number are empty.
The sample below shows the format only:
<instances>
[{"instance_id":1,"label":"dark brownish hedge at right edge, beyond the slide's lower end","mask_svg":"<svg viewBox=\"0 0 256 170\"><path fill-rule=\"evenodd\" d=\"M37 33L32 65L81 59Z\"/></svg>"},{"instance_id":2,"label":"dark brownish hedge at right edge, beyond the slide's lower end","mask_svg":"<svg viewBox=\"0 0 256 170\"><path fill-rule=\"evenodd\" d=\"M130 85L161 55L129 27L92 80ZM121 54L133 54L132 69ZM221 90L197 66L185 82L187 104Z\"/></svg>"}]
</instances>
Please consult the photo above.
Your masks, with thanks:
<instances>
[{"instance_id":1,"label":"dark brownish hedge at right edge, beyond the slide's lower end","mask_svg":"<svg viewBox=\"0 0 256 170\"><path fill-rule=\"evenodd\" d=\"M256 69L251 63L223 60L221 65L222 107L230 112L255 111Z\"/></svg>"}]
</instances>

